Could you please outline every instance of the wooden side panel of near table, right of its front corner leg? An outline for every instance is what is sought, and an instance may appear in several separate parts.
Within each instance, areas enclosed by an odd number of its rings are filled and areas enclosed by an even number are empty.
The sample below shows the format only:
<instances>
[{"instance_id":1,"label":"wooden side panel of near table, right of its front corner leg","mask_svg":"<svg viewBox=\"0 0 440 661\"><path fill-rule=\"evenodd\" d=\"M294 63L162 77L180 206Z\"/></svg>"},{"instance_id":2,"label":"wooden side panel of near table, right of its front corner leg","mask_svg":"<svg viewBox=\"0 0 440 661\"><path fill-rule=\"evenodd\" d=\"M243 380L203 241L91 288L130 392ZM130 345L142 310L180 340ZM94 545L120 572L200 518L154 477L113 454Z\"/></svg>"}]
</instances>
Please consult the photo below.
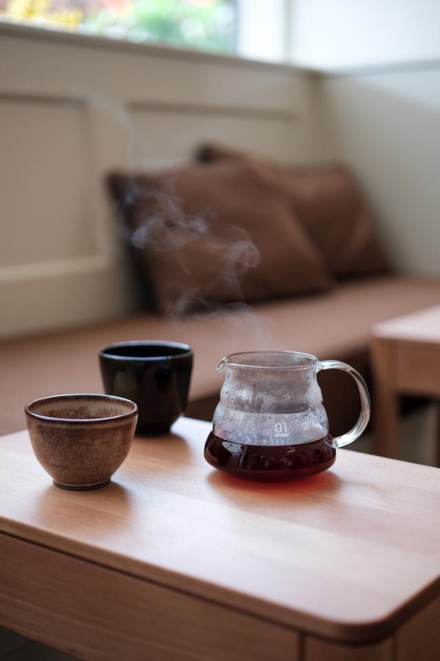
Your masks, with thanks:
<instances>
[{"instance_id":1,"label":"wooden side panel of near table, right of its front corner leg","mask_svg":"<svg viewBox=\"0 0 440 661\"><path fill-rule=\"evenodd\" d=\"M438 661L440 598L421 610L397 632L396 661Z\"/></svg>"}]
</instances>

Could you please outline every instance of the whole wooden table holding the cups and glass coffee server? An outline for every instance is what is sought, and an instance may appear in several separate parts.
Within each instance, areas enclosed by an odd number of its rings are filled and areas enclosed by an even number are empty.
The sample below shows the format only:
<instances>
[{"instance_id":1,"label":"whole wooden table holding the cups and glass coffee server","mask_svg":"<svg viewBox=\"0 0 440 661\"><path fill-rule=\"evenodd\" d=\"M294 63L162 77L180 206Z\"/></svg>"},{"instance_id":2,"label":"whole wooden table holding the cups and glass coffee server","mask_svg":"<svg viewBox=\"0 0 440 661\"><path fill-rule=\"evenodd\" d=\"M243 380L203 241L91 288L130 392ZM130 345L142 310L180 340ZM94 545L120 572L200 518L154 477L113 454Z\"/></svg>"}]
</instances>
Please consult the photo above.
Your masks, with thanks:
<instances>
[{"instance_id":1,"label":"whole wooden table holding the cups and glass coffee server","mask_svg":"<svg viewBox=\"0 0 440 661\"><path fill-rule=\"evenodd\" d=\"M0 439L0 626L96 661L437 660L440 470L338 450L239 481L204 461L209 429L136 439L92 492Z\"/></svg>"}]
</instances>

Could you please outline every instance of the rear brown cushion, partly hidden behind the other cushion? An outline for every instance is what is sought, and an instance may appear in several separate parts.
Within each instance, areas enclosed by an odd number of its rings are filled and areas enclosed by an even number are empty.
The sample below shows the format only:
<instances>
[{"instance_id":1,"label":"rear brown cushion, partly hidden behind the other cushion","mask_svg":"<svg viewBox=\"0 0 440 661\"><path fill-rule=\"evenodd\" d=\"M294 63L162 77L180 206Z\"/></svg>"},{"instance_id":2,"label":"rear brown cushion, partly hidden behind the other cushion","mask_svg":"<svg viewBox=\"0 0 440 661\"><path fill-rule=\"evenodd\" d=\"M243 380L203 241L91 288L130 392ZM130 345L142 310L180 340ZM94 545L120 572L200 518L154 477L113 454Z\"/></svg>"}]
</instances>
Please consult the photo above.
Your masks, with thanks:
<instances>
[{"instance_id":1,"label":"rear brown cushion, partly hidden behind the other cushion","mask_svg":"<svg viewBox=\"0 0 440 661\"><path fill-rule=\"evenodd\" d=\"M204 145L199 160L252 162L285 194L289 207L336 277L390 270L374 231L373 218L351 173L341 165L285 167L217 145Z\"/></svg>"}]
</instances>

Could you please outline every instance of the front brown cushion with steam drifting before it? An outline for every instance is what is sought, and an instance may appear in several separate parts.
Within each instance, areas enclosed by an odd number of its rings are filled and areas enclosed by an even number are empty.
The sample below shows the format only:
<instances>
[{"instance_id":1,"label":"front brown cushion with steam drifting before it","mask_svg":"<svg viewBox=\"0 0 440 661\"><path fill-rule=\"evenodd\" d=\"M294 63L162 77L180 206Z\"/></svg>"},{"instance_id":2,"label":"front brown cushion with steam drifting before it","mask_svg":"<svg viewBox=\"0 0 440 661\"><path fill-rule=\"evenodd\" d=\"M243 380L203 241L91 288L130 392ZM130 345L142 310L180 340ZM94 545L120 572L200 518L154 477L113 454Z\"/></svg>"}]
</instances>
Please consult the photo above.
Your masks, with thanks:
<instances>
[{"instance_id":1,"label":"front brown cushion with steam drifting before it","mask_svg":"<svg viewBox=\"0 0 440 661\"><path fill-rule=\"evenodd\" d=\"M323 291L322 258L254 165L109 178L162 311Z\"/></svg>"}]
</instances>

